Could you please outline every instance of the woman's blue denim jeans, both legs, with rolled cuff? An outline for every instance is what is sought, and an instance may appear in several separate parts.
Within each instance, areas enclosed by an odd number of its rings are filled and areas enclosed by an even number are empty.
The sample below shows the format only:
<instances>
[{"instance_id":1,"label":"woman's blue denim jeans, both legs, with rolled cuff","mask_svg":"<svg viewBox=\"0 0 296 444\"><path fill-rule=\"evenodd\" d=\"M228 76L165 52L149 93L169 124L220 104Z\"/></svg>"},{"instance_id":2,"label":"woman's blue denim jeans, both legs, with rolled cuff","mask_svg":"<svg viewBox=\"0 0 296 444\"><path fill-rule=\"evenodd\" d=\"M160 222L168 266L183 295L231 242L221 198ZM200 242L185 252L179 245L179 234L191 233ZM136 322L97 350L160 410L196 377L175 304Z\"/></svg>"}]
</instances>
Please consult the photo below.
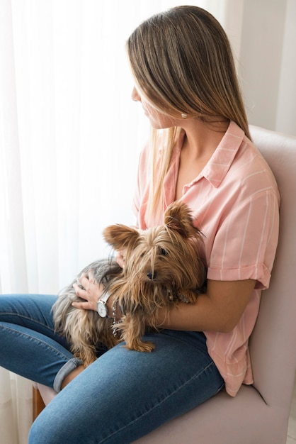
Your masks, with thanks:
<instances>
[{"instance_id":1,"label":"woman's blue denim jeans, both legs, with rolled cuff","mask_svg":"<svg viewBox=\"0 0 296 444\"><path fill-rule=\"evenodd\" d=\"M59 390L80 362L54 331L55 299L0 296L0 365ZM29 444L129 444L224 387L203 333L164 330L147 338L156 344L152 353L123 345L101 352L38 416Z\"/></svg>"}]
</instances>

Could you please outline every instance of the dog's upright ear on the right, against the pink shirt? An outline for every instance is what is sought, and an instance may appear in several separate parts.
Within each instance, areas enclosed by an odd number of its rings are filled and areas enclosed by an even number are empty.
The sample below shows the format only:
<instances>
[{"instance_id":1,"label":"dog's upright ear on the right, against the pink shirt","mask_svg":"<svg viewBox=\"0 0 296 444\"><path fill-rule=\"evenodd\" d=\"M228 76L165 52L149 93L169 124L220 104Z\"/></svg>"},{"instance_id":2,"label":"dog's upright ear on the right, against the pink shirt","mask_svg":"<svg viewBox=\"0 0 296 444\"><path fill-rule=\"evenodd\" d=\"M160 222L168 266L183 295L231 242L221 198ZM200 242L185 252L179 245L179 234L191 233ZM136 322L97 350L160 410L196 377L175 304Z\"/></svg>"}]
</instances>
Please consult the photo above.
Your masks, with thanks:
<instances>
[{"instance_id":1,"label":"dog's upright ear on the right, against the pink shirt","mask_svg":"<svg viewBox=\"0 0 296 444\"><path fill-rule=\"evenodd\" d=\"M200 231L193 225L191 211L184 202L171 204L164 213L164 224L173 231L177 231L183 238L200 235Z\"/></svg>"}]
</instances>

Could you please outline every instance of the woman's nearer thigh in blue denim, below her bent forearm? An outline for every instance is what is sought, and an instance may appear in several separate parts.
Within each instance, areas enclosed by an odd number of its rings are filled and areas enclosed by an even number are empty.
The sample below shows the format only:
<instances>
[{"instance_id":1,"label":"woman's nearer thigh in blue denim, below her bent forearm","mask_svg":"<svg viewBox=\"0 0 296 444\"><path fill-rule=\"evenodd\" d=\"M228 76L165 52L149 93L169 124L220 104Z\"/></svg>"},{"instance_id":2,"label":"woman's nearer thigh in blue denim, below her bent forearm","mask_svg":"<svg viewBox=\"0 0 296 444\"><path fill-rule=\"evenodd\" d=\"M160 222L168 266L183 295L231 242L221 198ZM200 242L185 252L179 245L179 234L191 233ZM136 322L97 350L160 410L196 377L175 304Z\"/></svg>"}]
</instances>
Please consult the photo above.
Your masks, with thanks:
<instances>
[{"instance_id":1,"label":"woman's nearer thigh in blue denim, below her bent forearm","mask_svg":"<svg viewBox=\"0 0 296 444\"><path fill-rule=\"evenodd\" d=\"M38 416L29 443L132 443L223 387L203 333L148 336L152 353L118 345L79 374Z\"/></svg>"}]
</instances>

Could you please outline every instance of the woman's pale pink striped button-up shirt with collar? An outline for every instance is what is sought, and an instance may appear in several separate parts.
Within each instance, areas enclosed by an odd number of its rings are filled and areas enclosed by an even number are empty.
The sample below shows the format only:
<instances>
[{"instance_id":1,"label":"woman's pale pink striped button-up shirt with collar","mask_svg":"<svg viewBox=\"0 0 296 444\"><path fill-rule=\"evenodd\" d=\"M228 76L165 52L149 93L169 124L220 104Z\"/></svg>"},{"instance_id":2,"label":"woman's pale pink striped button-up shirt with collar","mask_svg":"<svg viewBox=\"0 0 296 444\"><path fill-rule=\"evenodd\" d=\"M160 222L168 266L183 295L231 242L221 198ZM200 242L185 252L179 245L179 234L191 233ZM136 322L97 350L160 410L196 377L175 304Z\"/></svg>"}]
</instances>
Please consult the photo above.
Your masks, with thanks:
<instances>
[{"instance_id":1,"label":"woman's pale pink striped button-up shirt with collar","mask_svg":"<svg viewBox=\"0 0 296 444\"><path fill-rule=\"evenodd\" d=\"M182 143L183 137L173 151L164 179L164 209L176 194ZM147 228L148 157L145 148L140 156L135 194L135 211L142 229ZM242 383L253 383L248 341L258 315L261 290L269 285L278 243L278 187L260 152L241 128L231 122L203 171L183 187L181 200L193 210L195 225L205 236L207 278L257 281L249 304L232 332L204 332L208 352L224 378L227 393L235 396ZM151 224L162 222L154 220Z\"/></svg>"}]
</instances>

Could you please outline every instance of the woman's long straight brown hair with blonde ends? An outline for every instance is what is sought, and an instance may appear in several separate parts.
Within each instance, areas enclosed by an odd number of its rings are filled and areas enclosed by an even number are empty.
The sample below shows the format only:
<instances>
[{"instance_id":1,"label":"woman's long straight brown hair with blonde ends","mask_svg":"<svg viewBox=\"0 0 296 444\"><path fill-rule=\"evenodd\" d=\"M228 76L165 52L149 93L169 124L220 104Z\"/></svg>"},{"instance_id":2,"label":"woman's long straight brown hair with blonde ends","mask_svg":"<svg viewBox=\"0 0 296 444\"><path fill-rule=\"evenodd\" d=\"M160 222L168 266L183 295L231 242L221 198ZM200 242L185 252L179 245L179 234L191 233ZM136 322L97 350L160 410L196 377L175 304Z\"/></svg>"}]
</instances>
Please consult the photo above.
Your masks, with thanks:
<instances>
[{"instance_id":1,"label":"woman's long straight brown hair with blonde ends","mask_svg":"<svg viewBox=\"0 0 296 444\"><path fill-rule=\"evenodd\" d=\"M177 6L138 26L127 40L137 87L161 113L181 118L222 116L250 138L232 49L220 23L198 6ZM163 150L155 167L159 131L151 138L152 184L147 212L161 213L162 183L179 128L161 130Z\"/></svg>"}]
</instances>

